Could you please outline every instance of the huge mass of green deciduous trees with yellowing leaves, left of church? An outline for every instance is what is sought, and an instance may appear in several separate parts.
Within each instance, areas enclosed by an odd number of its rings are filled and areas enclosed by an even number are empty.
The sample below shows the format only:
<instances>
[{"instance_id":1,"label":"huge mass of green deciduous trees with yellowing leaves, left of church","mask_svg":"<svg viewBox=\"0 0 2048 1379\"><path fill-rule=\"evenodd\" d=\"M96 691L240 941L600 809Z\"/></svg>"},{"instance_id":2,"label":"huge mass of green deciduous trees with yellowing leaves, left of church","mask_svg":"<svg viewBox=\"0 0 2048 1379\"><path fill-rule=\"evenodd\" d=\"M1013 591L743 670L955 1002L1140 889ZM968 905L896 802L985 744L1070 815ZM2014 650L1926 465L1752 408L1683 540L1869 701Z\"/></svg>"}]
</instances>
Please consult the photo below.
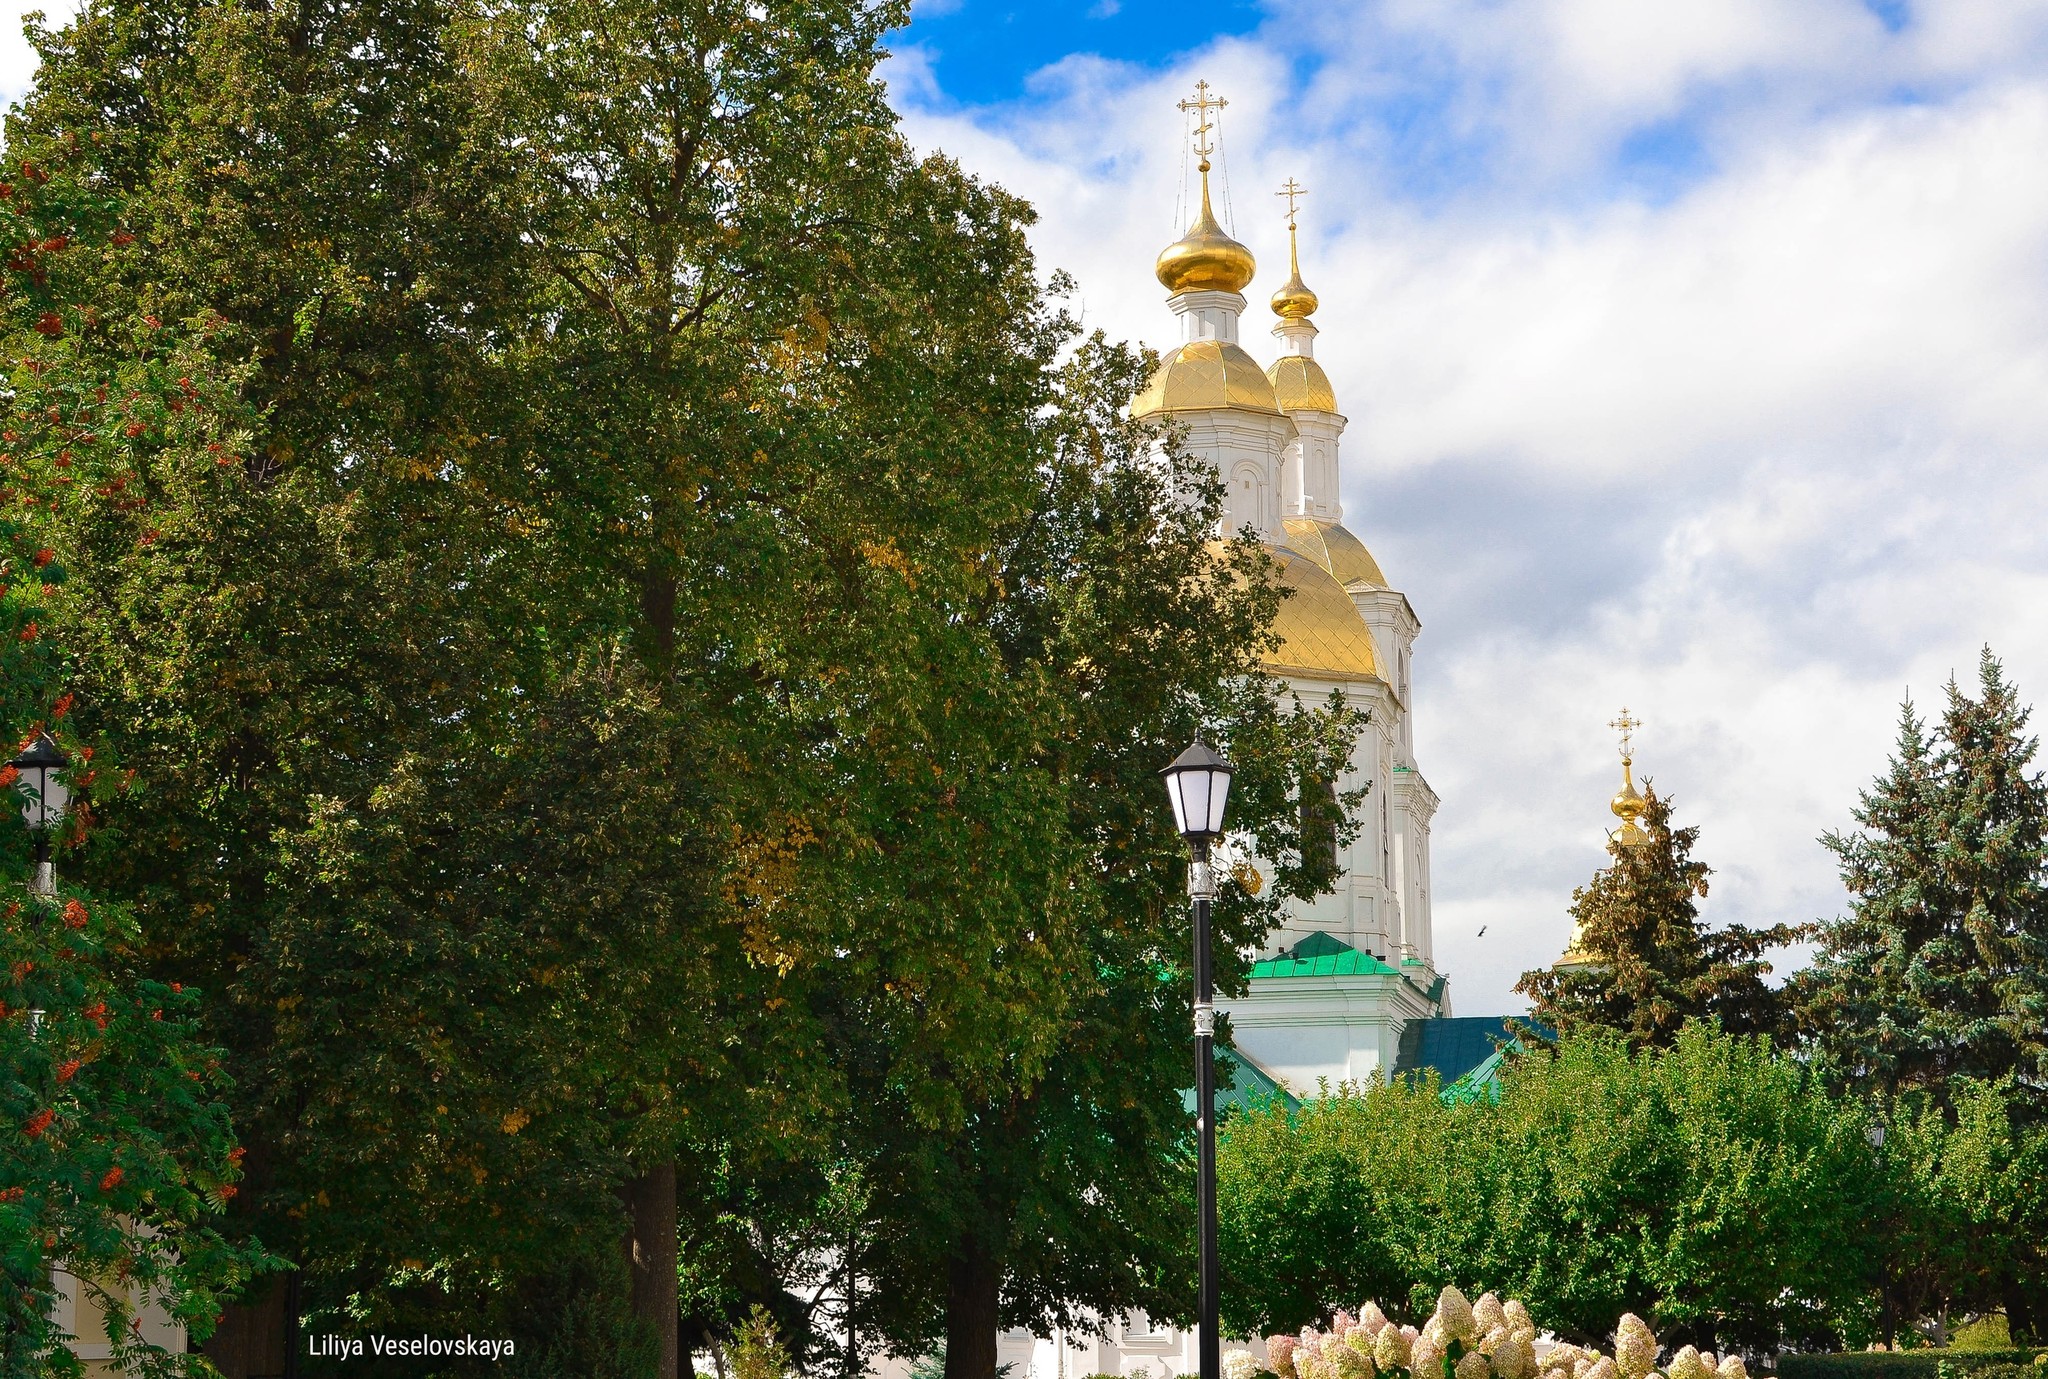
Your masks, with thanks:
<instances>
[{"instance_id":1,"label":"huge mass of green deciduous trees with yellowing leaves, left of church","mask_svg":"<svg viewBox=\"0 0 2048 1379\"><path fill-rule=\"evenodd\" d=\"M535 1342L668 1379L678 1197L940 1150L944 1201L870 1221L913 1246L885 1336L969 1315L954 1277L975 1326L1174 1291L1151 770L1227 729L1286 856L1348 717L1257 676L1274 592L1118 416L1139 361L1055 369L1028 209L895 131L903 8L88 0L39 35L8 158L133 236L80 299L217 314L250 361L205 484L33 520L80 717L152 781L92 879L225 998L244 1225L305 1311L530 1336L532 1299L631 1299L637 1336L561 1303L584 1340ZM842 1143L856 1106L899 1121ZM1149 1215L1096 1211L1110 1174Z\"/></svg>"}]
</instances>

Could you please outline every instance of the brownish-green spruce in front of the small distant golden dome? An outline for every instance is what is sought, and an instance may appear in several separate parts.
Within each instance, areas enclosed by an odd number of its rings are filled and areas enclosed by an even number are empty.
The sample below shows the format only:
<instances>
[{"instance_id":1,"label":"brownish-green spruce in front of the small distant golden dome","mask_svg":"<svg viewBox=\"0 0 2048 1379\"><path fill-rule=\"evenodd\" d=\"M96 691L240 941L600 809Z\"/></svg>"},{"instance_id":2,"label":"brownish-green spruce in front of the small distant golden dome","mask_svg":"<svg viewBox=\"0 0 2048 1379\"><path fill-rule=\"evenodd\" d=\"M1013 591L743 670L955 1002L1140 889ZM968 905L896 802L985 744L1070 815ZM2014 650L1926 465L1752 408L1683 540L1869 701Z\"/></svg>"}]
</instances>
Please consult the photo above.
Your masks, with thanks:
<instances>
[{"instance_id":1,"label":"brownish-green spruce in front of the small distant golden dome","mask_svg":"<svg viewBox=\"0 0 2048 1379\"><path fill-rule=\"evenodd\" d=\"M1710 869L1694 861L1698 826L1671 828L1671 803L1642 795L1640 842L1608 840L1612 863L1571 895L1583 967L1522 973L1516 990L1552 1029L1622 1031L1634 1047L1665 1047L1688 1020L1718 1020L1733 1035L1788 1035L1784 994L1763 977L1765 953L1804 930L1708 928L1698 902Z\"/></svg>"}]
</instances>

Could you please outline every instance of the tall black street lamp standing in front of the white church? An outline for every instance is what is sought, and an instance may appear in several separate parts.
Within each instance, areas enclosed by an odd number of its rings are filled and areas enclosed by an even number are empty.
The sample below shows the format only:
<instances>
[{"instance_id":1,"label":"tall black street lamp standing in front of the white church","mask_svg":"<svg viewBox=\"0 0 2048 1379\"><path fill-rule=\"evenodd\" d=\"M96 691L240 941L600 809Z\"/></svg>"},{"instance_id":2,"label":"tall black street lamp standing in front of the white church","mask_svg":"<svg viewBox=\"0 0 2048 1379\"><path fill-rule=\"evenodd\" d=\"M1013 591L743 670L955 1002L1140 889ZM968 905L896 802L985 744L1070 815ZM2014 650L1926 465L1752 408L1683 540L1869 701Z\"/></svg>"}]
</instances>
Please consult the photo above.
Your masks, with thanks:
<instances>
[{"instance_id":1,"label":"tall black street lamp standing in front of the white church","mask_svg":"<svg viewBox=\"0 0 2048 1379\"><path fill-rule=\"evenodd\" d=\"M1217 873L1208 848L1223 836L1223 805L1231 795L1231 762L1200 738L1161 770L1174 801L1174 826L1188 840L1188 897L1194 900L1194 1100L1198 1236L1202 1252L1200 1379L1221 1379L1223 1340L1217 1334L1217 1037L1214 969L1208 961L1208 906L1217 900Z\"/></svg>"}]
</instances>

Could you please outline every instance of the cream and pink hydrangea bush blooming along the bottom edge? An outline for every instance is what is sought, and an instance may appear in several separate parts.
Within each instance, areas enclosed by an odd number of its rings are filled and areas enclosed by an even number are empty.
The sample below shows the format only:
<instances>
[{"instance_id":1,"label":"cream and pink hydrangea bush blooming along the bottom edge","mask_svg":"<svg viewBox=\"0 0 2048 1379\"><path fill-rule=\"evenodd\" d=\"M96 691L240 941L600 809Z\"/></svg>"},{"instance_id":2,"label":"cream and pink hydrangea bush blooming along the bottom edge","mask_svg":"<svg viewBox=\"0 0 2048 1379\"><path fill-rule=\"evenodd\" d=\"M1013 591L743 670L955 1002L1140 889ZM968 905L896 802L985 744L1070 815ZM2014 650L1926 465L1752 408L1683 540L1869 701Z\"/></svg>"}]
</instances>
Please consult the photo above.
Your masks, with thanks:
<instances>
[{"instance_id":1,"label":"cream and pink hydrangea bush blooming along the bottom edge","mask_svg":"<svg viewBox=\"0 0 2048 1379\"><path fill-rule=\"evenodd\" d=\"M1663 1348L1634 1313L1614 1328L1614 1354L1556 1344L1538 1356L1528 1307L1493 1293L1470 1301L1458 1289L1444 1289L1421 1328L1397 1326L1366 1303L1356 1318L1339 1311L1327 1332L1268 1336L1266 1348L1278 1379L1749 1379L1739 1354L1716 1361L1694 1346L1657 1369ZM1229 1361L1225 1371L1243 1379Z\"/></svg>"}]
</instances>

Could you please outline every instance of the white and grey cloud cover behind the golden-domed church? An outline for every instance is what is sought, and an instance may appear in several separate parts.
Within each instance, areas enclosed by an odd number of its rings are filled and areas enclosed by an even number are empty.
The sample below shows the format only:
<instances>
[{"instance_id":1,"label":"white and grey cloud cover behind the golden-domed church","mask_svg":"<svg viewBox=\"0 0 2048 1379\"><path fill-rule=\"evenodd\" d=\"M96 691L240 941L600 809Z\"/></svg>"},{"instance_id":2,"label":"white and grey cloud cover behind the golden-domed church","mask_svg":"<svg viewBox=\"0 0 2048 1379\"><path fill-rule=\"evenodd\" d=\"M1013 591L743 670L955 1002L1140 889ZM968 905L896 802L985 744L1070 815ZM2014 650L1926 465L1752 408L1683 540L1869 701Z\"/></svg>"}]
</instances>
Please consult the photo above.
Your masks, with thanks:
<instances>
[{"instance_id":1,"label":"white and grey cloud cover behind the golden-domed church","mask_svg":"<svg viewBox=\"0 0 2048 1379\"><path fill-rule=\"evenodd\" d=\"M1817 836L1849 826L1905 691L1937 711L1989 641L2048 701L2048 6L1927 6L1896 35L1847 0L1317 14L1163 74L1069 59L1028 107L907 125L1030 197L1090 322L1155 344L1192 80L1231 96L1237 232L1268 264L1253 348L1284 262L1266 193L1311 186L1346 506L1425 623L1460 1010L1516 1008L1563 945L1624 703L1704 830L1710 918L1839 912ZM1425 119L1501 139L1452 160L1448 195L1415 193L1442 170L1376 105L1423 39L1452 92ZM1690 186L1597 172L1681 111Z\"/></svg>"}]
</instances>

